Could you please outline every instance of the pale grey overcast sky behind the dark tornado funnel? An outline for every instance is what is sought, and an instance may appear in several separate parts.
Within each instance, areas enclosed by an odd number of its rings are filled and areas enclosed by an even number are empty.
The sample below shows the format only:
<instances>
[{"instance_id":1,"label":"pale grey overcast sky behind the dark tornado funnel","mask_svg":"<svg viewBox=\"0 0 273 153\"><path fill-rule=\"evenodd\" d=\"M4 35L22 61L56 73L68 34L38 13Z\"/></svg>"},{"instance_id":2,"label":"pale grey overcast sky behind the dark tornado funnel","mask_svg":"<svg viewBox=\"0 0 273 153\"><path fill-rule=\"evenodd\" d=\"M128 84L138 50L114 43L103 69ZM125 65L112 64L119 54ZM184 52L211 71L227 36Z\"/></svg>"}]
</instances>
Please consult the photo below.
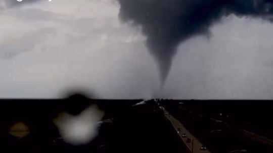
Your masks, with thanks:
<instances>
[{"instance_id":1,"label":"pale grey overcast sky behind the dark tornado funnel","mask_svg":"<svg viewBox=\"0 0 273 153\"><path fill-rule=\"evenodd\" d=\"M0 97L272 99L273 24L222 17L179 43L164 85L141 26L116 0L0 0ZM134 0L136 1L136 0ZM9 3L7 3L9 2Z\"/></svg>"}]
</instances>

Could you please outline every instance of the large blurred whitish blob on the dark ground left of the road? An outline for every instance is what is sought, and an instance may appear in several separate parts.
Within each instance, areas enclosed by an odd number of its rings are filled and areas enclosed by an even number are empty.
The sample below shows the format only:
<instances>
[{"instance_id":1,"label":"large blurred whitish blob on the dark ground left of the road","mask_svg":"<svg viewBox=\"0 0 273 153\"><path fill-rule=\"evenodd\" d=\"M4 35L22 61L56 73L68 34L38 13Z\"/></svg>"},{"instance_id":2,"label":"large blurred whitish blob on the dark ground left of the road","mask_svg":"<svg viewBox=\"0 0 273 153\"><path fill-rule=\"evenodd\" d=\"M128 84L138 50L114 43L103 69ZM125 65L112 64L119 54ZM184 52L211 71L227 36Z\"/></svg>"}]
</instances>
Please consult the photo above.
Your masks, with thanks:
<instances>
[{"instance_id":1,"label":"large blurred whitish blob on the dark ground left of the road","mask_svg":"<svg viewBox=\"0 0 273 153\"><path fill-rule=\"evenodd\" d=\"M81 145L90 142L98 134L98 122L104 116L104 112L96 105L90 106L78 116L62 113L54 120L65 142L73 145Z\"/></svg>"}]
</instances>

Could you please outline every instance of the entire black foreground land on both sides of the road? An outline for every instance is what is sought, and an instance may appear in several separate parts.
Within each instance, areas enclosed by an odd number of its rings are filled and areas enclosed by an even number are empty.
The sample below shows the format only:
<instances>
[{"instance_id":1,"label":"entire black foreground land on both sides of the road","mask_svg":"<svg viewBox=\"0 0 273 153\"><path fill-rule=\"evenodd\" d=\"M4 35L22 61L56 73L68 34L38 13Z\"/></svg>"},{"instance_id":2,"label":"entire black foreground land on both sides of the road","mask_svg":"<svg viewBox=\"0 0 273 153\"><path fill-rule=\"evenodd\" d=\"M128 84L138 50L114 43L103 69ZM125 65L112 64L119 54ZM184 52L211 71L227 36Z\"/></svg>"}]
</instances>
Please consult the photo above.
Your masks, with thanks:
<instances>
[{"instance_id":1,"label":"entire black foreground land on both sides of the road","mask_svg":"<svg viewBox=\"0 0 273 153\"><path fill-rule=\"evenodd\" d=\"M273 152L273 101L0 100L0 142L9 152L188 152L159 106L178 119L210 152ZM60 112L79 114L91 104L105 112L99 135L86 145L65 143L52 120ZM30 134L8 134L23 122ZM4 151L4 150L3 150Z\"/></svg>"}]
</instances>

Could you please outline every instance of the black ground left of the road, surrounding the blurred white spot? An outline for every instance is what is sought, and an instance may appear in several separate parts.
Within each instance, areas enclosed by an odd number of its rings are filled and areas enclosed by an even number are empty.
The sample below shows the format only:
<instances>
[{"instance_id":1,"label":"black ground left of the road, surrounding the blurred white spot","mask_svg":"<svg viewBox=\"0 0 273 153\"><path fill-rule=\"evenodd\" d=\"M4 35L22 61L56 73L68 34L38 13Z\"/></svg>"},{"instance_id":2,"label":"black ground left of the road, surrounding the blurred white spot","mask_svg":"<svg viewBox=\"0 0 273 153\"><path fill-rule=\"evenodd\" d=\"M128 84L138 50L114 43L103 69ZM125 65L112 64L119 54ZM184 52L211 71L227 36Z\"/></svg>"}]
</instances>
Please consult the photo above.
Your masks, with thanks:
<instances>
[{"instance_id":1,"label":"black ground left of the road, surrounding the blurred white spot","mask_svg":"<svg viewBox=\"0 0 273 153\"><path fill-rule=\"evenodd\" d=\"M1 146L8 152L186 152L164 114L154 104L132 107L140 100L2 100ZM62 111L78 114L96 103L105 111L99 135L86 145L73 146L61 139L52 119ZM24 122L30 134L22 139L8 134ZM4 150L3 150L4 151Z\"/></svg>"}]
</instances>

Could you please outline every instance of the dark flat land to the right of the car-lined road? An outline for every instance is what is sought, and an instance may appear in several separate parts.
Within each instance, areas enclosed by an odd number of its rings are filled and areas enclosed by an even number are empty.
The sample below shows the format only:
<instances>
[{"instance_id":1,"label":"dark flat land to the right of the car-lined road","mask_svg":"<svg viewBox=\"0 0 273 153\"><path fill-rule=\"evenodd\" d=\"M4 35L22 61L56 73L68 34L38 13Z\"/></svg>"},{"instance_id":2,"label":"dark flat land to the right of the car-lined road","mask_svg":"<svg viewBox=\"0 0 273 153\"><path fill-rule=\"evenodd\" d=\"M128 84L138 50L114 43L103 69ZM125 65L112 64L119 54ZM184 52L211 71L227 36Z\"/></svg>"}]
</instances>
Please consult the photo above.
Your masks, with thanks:
<instances>
[{"instance_id":1,"label":"dark flat land to the right of the car-lined road","mask_svg":"<svg viewBox=\"0 0 273 153\"><path fill-rule=\"evenodd\" d=\"M163 100L161 104L211 152L273 152L273 101Z\"/></svg>"}]
</instances>

